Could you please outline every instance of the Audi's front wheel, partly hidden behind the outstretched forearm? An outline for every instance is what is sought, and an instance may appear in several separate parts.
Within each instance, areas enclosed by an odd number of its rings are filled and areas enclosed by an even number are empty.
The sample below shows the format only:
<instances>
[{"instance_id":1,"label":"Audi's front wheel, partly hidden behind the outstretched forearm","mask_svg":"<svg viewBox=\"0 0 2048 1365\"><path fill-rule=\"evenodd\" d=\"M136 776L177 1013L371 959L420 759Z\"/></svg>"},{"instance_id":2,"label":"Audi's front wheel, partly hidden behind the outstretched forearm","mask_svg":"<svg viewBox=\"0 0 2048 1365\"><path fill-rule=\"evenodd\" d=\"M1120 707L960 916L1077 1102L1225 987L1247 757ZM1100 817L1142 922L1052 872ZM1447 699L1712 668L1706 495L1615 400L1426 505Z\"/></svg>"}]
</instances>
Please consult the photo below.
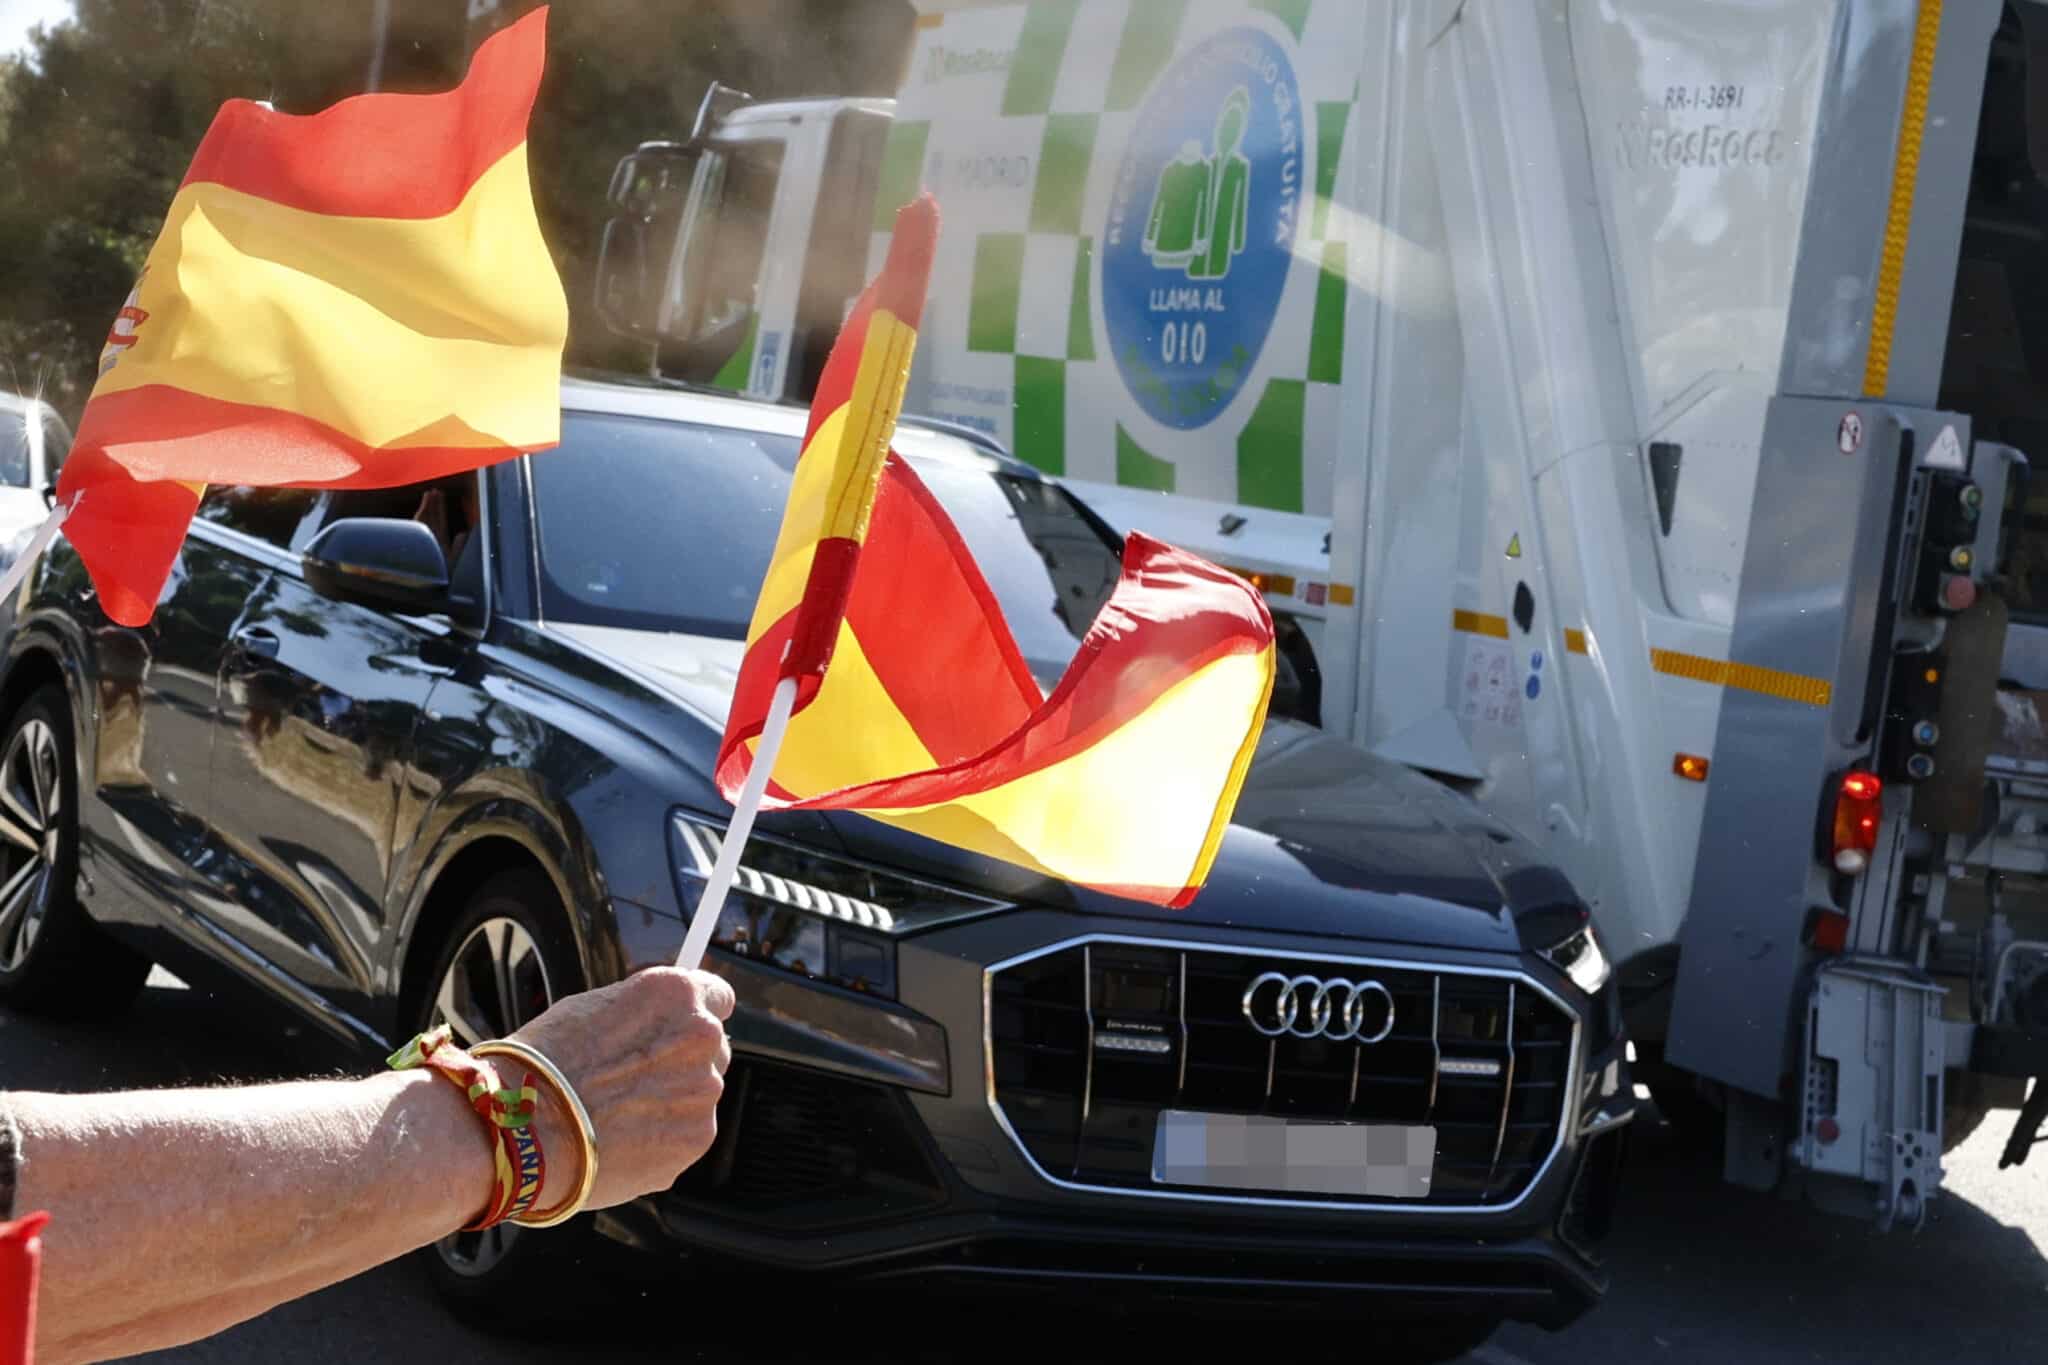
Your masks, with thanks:
<instances>
[{"instance_id":1,"label":"Audi's front wheel, partly hidden behind the outstretched forearm","mask_svg":"<svg viewBox=\"0 0 2048 1365\"><path fill-rule=\"evenodd\" d=\"M508 960L510 972L502 970ZM510 993L500 986L506 978ZM436 945L434 968L422 978L418 999L408 1001L406 1017L416 1031L446 1019L457 1042L471 1044L504 1038L582 988L553 882L520 868L500 872L469 898ZM547 1199L553 1203L555 1195ZM545 1230L498 1224L487 1232L457 1232L416 1257L459 1316L485 1330L518 1332L561 1326L588 1312L600 1297L598 1252L608 1250L584 1214Z\"/></svg>"}]
</instances>

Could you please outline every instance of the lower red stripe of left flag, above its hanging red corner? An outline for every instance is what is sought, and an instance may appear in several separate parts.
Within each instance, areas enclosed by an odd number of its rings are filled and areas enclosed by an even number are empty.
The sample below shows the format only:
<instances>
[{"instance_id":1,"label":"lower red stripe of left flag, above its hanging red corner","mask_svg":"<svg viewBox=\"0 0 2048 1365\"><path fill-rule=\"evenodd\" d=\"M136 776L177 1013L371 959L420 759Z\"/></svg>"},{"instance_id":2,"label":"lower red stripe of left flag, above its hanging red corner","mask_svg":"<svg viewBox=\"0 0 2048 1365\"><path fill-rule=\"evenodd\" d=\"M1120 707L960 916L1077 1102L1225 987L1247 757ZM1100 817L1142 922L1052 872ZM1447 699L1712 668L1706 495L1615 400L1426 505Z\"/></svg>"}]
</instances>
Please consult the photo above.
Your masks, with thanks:
<instances>
[{"instance_id":1,"label":"lower red stripe of left flag, above its hanging red corner","mask_svg":"<svg viewBox=\"0 0 2048 1365\"><path fill-rule=\"evenodd\" d=\"M135 479L383 489L457 475L539 446L371 446L283 407L225 403L170 385L100 393L86 403L74 450L104 450ZM66 463L63 499L76 487Z\"/></svg>"}]
</instances>

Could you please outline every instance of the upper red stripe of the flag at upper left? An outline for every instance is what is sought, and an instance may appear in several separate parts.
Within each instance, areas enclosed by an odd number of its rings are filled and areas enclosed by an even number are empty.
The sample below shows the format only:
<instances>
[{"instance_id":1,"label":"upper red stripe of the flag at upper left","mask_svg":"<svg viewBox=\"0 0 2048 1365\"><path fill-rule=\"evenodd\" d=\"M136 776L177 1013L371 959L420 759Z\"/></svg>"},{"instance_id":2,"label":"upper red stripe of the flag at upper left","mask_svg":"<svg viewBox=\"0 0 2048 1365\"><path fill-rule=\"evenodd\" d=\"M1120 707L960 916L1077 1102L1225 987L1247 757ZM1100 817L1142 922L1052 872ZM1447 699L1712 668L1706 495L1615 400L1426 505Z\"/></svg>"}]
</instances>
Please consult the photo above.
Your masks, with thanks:
<instances>
[{"instance_id":1,"label":"upper red stripe of the flag at upper left","mask_svg":"<svg viewBox=\"0 0 2048 1365\"><path fill-rule=\"evenodd\" d=\"M455 90L358 94L315 115L227 100L182 184L223 184L344 217L453 213L477 176L526 141L545 59L547 6L541 6L477 47Z\"/></svg>"}]
</instances>

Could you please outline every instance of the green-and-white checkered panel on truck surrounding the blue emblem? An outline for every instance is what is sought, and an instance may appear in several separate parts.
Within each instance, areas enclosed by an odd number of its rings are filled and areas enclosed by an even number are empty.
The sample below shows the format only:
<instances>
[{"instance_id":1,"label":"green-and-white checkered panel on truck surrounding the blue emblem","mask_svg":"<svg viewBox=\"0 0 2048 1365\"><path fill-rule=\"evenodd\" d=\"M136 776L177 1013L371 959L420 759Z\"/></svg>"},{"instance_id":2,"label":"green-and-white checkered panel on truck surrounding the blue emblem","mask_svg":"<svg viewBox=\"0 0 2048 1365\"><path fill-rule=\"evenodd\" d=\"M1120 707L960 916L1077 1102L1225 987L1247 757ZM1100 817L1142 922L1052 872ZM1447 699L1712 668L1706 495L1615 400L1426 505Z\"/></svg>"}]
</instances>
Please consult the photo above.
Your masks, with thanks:
<instances>
[{"instance_id":1,"label":"green-and-white checkered panel on truck surrounding the blue emblem","mask_svg":"<svg viewBox=\"0 0 2048 1365\"><path fill-rule=\"evenodd\" d=\"M1190 43L1257 27L1290 53L1311 199L1272 329L1221 415L1153 422L1108 354L1096 233L1139 106ZM940 258L909 407L1038 469L1282 512L1331 495L1346 327L1346 127L1364 59L1352 0L1030 0L930 14L897 98L872 264L920 186ZM1356 158L1354 158L1356 160Z\"/></svg>"}]
</instances>

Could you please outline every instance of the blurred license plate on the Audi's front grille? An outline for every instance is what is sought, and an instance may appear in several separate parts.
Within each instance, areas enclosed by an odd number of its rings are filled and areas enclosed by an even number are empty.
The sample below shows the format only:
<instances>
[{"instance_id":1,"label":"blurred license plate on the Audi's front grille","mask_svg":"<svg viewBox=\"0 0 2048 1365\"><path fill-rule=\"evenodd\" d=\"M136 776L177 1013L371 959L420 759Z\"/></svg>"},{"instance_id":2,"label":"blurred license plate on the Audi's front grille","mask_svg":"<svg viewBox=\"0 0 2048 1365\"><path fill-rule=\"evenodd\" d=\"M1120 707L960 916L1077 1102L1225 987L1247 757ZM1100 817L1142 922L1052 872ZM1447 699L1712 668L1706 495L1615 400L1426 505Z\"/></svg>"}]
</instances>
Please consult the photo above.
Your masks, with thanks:
<instances>
[{"instance_id":1,"label":"blurred license plate on the Audi's front grille","mask_svg":"<svg viewBox=\"0 0 2048 1365\"><path fill-rule=\"evenodd\" d=\"M1421 1199L1434 1164L1436 1128L1427 1124L1165 1109L1153 1136L1159 1185Z\"/></svg>"}]
</instances>

